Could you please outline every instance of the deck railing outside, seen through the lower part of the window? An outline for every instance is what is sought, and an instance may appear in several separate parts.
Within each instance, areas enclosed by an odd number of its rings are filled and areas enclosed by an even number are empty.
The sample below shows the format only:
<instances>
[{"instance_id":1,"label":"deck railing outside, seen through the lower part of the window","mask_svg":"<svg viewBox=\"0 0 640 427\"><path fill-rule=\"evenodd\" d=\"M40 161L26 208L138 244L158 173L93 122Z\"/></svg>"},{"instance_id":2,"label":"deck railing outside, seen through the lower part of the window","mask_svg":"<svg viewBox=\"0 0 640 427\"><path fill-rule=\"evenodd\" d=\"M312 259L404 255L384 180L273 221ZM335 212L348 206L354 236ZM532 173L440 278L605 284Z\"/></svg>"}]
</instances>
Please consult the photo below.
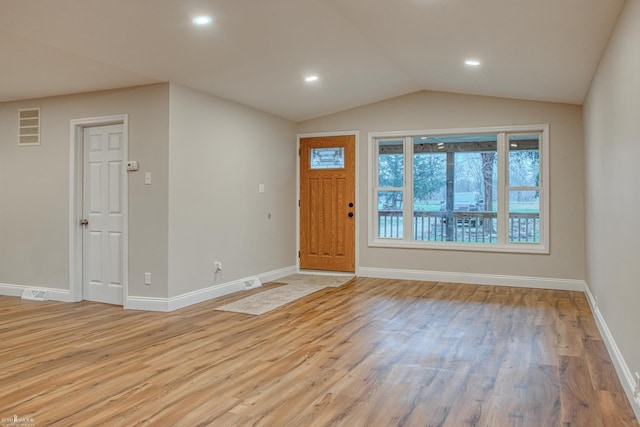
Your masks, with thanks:
<instances>
[{"instance_id":1,"label":"deck railing outside, seen through the lower part of the window","mask_svg":"<svg viewBox=\"0 0 640 427\"><path fill-rule=\"evenodd\" d=\"M538 213L510 213L509 241L540 241ZM378 211L378 237L402 238L402 211ZM480 211L413 213L413 240L425 242L495 243L498 239L498 213Z\"/></svg>"}]
</instances>

